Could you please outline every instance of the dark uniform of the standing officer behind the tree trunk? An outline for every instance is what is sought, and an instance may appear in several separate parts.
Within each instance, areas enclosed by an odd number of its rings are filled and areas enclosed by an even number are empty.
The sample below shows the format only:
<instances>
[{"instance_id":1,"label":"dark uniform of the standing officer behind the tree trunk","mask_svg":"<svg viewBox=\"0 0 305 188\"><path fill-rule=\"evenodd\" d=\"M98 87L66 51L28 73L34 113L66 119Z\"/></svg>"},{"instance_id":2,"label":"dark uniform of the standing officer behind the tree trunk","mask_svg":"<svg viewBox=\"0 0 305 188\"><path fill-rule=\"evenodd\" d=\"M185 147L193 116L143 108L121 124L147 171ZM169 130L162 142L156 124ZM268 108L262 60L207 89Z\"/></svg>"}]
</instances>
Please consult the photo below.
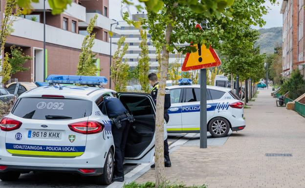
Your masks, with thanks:
<instances>
[{"instance_id":1,"label":"dark uniform of the standing officer behind the tree trunk","mask_svg":"<svg viewBox=\"0 0 305 188\"><path fill-rule=\"evenodd\" d=\"M152 93L151 93L154 104L156 104L156 102L157 102L158 89L159 89L159 83L157 82L156 84L153 85ZM171 107L171 92L169 89L166 88L165 89L165 99L164 99L164 119L165 119L166 123L168 123L170 120L170 116L168 114L168 109L170 107ZM165 163L167 161L168 162L171 161L167 139L164 141L164 159L165 159ZM165 164L165 165L167 165L167 164Z\"/></svg>"}]
</instances>

